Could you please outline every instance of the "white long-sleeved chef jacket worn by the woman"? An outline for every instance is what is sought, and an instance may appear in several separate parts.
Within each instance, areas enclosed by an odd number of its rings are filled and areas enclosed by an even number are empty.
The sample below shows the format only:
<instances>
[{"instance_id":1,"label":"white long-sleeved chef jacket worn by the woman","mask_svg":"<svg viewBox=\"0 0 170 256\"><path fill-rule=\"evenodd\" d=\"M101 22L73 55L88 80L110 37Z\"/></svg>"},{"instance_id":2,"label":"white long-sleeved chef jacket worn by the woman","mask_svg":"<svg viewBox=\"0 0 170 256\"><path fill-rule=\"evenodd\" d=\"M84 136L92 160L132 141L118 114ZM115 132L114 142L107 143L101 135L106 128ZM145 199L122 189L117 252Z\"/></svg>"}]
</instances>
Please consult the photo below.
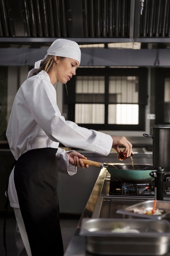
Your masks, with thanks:
<instances>
[{"instance_id":1,"label":"white long-sleeved chef jacket worn by the woman","mask_svg":"<svg viewBox=\"0 0 170 256\"><path fill-rule=\"evenodd\" d=\"M108 155L113 144L110 135L64 119L57 106L56 90L44 70L26 79L20 86L13 102L6 136L16 160L28 150L58 148L59 143ZM76 173L77 168L69 164L65 150L58 148L56 156L59 171L69 175ZM19 207L13 171L9 177L8 195L11 207Z\"/></svg>"}]
</instances>

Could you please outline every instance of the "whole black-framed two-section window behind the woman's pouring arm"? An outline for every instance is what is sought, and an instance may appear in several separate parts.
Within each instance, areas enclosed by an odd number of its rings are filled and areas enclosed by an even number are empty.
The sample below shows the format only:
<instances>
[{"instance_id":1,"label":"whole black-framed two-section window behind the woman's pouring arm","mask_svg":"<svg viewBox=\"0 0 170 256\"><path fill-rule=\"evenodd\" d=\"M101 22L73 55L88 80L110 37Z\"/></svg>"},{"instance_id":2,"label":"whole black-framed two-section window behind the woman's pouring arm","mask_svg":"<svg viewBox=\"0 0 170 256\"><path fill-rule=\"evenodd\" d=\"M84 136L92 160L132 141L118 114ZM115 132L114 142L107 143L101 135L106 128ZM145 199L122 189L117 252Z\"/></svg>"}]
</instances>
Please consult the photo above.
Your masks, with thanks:
<instances>
[{"instance_id":1,"label":"whole black-framed two-section window behind the woman's pouring arm","mask_svg":"<svg viewBox=\"0 0 170 256\"><path fill-rule=\"evenodd\" d=\"M79 68L67 84L68 119L91 129L144 130L146 81L146 69Z\"/></svg>"}]
</instances>

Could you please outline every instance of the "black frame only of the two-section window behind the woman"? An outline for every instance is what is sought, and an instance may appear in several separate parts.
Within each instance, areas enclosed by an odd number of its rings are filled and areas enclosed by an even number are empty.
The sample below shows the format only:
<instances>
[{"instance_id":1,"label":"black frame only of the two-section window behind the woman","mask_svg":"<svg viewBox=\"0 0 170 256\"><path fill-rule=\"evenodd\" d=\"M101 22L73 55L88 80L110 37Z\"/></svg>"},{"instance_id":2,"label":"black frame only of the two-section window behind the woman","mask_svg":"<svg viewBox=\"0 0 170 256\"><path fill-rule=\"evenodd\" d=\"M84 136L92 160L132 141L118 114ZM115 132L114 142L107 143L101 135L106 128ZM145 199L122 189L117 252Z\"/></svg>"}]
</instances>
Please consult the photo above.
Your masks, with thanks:
<instances>
[{"instance_id":1,"label":"black frame only of the two-section window behind the woman","mask_svg":"<svg viewBox=\"0 0 170 256\"><path fill-rule=\"evenodd\" d=\"M146 105L148 99L147 84L148 84L148 70L145 67L138 68L90 68L82 67L77 69L76 76L73 76L71 81L67 83L67 90L64 88L64 104L68 109L68 120L75 121L75 83L77 76L104 76L105 77L105 124L78 124L88 129L95 130L145 130L146 124ZM139 124L124 125L124 124L108 124L108 84L109 76L138 76L139 79ZM83 103L83 102L82 102ZM94 102L93 102L94 103Z\"/></svg>"}]
</instances>

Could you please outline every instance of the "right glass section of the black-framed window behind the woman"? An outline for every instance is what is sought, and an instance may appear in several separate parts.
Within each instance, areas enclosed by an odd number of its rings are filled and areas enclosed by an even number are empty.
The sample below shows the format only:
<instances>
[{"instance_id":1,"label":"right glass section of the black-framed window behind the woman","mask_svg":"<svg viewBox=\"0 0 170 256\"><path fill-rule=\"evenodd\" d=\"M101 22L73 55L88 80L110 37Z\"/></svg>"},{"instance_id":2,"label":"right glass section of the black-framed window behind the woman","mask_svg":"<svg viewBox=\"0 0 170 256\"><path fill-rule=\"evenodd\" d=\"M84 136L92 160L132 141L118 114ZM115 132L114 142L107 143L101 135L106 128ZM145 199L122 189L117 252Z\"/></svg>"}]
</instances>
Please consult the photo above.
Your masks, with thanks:
<instances>
[{"instance_id":1,"label":"right glass section of the black-framed window behind the woman","mask_svg":"<svg viewBox=\"0 0 170 256\"><path fill-rule=\"evenodd\" d=\"M109 76L108 94L108 124L139 124L137 76Z\"/></svg>"}]
</instances>

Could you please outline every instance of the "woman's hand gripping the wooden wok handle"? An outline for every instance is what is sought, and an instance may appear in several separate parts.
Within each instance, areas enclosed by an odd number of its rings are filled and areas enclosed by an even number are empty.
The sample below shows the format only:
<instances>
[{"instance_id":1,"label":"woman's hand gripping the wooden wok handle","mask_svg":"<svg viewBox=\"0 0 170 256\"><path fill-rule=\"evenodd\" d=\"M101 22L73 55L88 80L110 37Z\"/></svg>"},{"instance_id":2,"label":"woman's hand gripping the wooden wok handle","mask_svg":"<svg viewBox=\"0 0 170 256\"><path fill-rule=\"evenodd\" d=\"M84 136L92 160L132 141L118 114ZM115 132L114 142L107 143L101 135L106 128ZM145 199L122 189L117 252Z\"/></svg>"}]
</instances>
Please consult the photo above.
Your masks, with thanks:
<instances>
[{"instance_id":1,"label":"woman's hand gripping the wooden wok handle","mask_svg":"<svg viewBox=\"0 0 170 256\"><path fill-rule=\"evenodd\" d=\"M83 169L88 168L88 164L84 165L84 163L80 159L80 158L87 159L87 157L85 157L84 155L78 153L75 150L67 152L67 155L69 157L69 163L70 164L72 164L74 166L77 166L77 167L82 167Z\"/></svg>"}]
</instances>

